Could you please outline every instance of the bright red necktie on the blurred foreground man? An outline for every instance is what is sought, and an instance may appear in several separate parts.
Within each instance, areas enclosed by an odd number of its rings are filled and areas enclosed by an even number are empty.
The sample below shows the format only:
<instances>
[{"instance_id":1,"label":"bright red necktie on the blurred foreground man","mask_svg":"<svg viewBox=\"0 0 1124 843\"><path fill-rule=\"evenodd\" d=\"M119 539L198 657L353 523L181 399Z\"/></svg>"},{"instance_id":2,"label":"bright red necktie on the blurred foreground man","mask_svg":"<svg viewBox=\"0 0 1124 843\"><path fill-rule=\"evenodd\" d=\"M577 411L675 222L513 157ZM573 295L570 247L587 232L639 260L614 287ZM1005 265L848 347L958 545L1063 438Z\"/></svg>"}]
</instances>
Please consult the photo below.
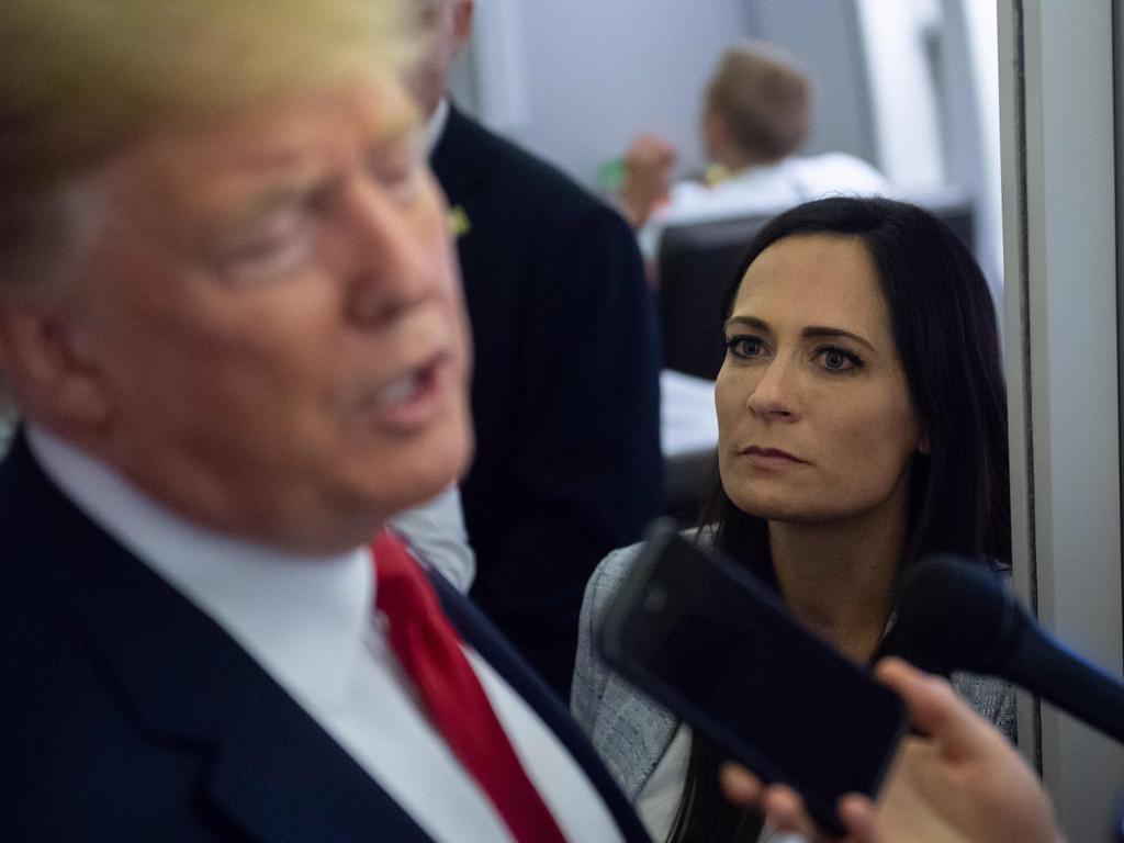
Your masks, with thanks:
<instances>
[{"instance_id":1,"label":"bright red necktie on the blurred foreground man","mask_svg":"<svg viewBox=\"0 0 1124 843\"><path fill-rule=\"evenodd\" d=\"M389 622L390 646L445 743L519 843L565 843L496 718L433 586L392 533L383 531L371 550L374 602Z\"/></svg>"}]
</instances>

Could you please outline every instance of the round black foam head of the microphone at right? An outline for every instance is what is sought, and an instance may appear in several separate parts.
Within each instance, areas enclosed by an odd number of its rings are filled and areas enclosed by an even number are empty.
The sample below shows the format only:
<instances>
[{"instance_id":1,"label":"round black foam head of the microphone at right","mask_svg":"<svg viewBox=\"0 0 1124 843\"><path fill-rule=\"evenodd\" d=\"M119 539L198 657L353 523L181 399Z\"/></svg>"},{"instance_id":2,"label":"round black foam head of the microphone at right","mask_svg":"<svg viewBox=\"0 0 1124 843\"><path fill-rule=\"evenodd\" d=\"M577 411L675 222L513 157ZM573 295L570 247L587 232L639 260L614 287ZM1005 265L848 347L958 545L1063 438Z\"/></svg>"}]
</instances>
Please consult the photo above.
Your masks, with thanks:
<instances>
[{"instance_id":1,"label":"round black foam head of the microphone at right","mask_svg":"<svg viewBox=\"0 0 1124 843\"><path fill-rule=\"evenodd\" d=\"M987 671L1009 643L1012 611L1012 598L986 565L934 554L903 575L896 623L945 669Z\"/></svg>"}]
</instances>

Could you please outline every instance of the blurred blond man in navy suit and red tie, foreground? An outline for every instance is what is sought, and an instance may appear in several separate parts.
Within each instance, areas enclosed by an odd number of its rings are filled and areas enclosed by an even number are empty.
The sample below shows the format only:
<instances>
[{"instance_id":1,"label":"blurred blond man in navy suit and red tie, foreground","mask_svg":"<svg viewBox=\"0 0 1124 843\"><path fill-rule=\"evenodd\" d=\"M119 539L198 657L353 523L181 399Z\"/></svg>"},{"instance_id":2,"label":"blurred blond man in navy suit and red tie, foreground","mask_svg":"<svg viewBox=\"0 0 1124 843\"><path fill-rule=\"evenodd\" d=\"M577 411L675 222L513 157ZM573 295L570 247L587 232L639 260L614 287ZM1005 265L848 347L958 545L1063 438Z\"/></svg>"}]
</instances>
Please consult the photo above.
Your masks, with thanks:
<instances>
[{"instance_id":1,"label":"blurred blond man in navy suit and red tie, foreground","mask_svg":"<svg viewBox=\"0 0 1124 843\"><path fill-rule=\"evenodd\" d=\"M472 448L399 6L0 6L4 839L644 840L381 533Z\"/></svg>"}]
</instances>

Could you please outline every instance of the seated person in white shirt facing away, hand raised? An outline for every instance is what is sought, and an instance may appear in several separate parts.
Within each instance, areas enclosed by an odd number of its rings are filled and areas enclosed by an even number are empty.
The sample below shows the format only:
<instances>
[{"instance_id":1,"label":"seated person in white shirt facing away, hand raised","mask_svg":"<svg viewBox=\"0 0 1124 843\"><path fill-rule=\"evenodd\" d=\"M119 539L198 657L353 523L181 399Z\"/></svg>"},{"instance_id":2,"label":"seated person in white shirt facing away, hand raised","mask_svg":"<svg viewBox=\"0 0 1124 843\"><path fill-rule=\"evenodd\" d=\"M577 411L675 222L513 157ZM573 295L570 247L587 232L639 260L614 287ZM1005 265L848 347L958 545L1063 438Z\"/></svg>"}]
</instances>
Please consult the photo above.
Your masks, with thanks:
<instances>
[{"instance_id":1,"label":"seated person in white shirt facing away, hand raised","mask_svg":"<svg viewBox=\"0 0 1124 843\"><path fill-rule=\"evenodd\" d=\"M708 183L671 184L674 149L637 138L625 156L620 202L654 259L669 225L779 211L825 193L888 193L870 164L844 153L797 157L812 128L812 82L785 53L750 40L726 51L707 84L703 143Z\"/></svg>"}]
</instances>

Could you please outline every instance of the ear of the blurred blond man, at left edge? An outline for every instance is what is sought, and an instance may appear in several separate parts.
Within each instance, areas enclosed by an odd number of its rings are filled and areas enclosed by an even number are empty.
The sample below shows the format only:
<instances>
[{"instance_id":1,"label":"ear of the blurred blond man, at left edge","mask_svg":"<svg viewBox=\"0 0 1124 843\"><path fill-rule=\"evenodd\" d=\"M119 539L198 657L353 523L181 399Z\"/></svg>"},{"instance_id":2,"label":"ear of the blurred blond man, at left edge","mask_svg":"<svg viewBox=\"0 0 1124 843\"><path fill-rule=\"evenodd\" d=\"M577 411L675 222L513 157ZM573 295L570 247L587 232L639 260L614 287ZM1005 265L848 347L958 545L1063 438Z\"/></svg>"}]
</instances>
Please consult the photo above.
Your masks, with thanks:
<instances>
[{"instance_id":1,"label":"ear of the blurred blond man, at left edge","mask_svg":"<svg viewBox=\"0 0 1124 843\"><path fill-rule=\"evenodd\" d=\"M78 361L49 305L0 303L0 369L20 410L53 429L89 433L109 418L100 378Z\"/></svg>"}]
</instances>

